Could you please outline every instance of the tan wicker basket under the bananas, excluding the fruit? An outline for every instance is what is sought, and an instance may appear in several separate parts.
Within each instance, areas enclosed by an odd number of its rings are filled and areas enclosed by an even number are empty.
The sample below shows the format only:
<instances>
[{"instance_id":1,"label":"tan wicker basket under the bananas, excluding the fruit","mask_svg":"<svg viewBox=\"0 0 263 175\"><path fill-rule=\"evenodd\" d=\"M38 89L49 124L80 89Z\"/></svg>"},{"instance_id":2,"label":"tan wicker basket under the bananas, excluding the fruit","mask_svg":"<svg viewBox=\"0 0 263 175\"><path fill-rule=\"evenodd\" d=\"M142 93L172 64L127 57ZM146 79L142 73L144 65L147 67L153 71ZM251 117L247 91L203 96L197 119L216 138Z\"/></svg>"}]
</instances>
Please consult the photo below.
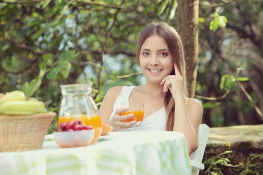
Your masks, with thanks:
<instances>
[{"instance_id":1,"label":"tan wicker basket under the bananas, excluding the fruit","mask_svg":"<svg viewBox=\"0 0 263 175\"><path fill-rule=\"evenodd\" d=\"M55 112L0 115L0 152L39 149Z\"/></svg>"}]
</instances>

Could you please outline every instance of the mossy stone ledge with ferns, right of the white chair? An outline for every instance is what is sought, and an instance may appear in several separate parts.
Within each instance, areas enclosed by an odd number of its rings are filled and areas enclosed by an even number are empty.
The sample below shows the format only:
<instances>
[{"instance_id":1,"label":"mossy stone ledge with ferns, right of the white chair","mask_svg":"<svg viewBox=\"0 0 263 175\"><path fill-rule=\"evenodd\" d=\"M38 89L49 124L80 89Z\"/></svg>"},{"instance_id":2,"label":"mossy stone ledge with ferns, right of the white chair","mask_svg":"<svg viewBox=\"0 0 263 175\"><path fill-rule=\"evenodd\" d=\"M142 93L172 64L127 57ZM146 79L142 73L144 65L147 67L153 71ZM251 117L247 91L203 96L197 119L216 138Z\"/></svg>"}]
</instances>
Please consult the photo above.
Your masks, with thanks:
<instances>
[{"instance_id":1,"label":"mossy stone ledge with ferns, right of the white chair","mask_svg":"<svg viewBox=\"0 0 263 175\"><path fill-rule=\"evenodd\" d=\"M263 174L263 124L212 127L199 174Z\"/></svg>"}]
</instances>

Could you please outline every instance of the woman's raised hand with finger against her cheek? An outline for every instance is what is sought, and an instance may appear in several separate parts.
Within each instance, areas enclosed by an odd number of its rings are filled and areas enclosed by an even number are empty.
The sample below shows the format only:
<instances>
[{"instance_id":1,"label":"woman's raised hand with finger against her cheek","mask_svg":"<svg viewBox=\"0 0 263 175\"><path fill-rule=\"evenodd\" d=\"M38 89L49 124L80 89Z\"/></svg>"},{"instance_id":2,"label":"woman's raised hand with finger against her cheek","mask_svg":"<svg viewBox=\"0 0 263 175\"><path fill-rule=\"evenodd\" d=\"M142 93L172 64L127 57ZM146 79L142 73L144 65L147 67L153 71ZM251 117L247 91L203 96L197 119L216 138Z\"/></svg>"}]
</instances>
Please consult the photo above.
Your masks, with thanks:
<instances>
[{"instance_id":1,"label":"woman's raised hand with finger against her cheek","mask_svg":"<svg viewBox=\"0 0 263 175\"><path fill-rule=\"evenodd\" d=\"M160 84L163 84L163 92L167 92L168 89L172 93L173 97L178 95L184 96L184 83L177 66L174 64L174 75L165 76Z\"/></svg>"}]
</instances>

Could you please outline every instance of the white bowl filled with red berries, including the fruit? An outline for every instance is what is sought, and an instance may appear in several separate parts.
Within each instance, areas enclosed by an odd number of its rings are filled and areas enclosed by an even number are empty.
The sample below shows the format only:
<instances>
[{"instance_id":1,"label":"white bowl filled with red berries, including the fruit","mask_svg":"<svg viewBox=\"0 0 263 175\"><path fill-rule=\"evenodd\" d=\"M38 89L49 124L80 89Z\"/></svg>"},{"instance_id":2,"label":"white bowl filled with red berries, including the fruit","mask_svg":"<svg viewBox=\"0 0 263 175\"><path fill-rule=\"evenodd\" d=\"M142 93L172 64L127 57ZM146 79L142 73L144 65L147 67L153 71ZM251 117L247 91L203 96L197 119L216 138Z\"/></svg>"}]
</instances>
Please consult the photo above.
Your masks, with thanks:
<instances>
[{"instance_id":1,"label":"white bowl filled with red berries, including the fruit","mask_svg":"<svg viewBox=\"0 0 263 175\"><path fill-rule=\"evenodd\" d=\"M92 125L85 125L76 120L61 123L53 134L60 147L79 147L91 143L94 137L94 129Z\"/></svg>"}]
</instances>

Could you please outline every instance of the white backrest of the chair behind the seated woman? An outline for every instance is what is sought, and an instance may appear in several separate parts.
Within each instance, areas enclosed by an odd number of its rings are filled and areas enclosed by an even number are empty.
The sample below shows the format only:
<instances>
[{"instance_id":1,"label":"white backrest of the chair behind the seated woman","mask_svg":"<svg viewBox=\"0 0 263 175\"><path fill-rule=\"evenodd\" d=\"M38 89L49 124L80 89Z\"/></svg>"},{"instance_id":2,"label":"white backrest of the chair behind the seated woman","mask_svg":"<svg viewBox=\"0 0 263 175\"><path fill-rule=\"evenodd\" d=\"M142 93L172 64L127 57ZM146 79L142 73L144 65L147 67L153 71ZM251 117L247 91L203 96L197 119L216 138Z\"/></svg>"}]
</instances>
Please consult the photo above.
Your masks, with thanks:
<instances>
[{"instance_id":1,"label":"white backrest of the chair behind the seated woman","mask_svg":"<svg viewBox=\"0 0 263 175\"><path fill-rule=\"evenodd\" d=\"M207 143L210 128L206 124L200 124L197 133L198 148L190 154L190 159L202 162L205 146Z\"/></svg>"}]
</instances>

